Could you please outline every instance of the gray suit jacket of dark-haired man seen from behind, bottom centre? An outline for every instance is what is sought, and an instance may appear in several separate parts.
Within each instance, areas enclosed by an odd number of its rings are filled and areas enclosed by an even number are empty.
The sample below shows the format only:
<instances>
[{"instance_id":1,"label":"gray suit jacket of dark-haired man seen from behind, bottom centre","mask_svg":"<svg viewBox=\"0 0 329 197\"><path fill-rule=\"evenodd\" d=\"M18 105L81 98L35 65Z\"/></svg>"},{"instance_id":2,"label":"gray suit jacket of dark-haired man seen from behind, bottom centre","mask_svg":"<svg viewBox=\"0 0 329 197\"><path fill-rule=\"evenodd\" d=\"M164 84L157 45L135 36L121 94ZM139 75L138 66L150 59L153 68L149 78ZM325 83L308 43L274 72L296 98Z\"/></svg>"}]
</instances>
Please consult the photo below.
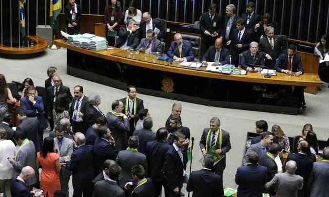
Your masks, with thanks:
<instances>
[{"instance_id":1,"label":"gray suit jacket of dark-haired man seen from behind, bottom centre","mask_svg":"<svg viewBox=\"0 0 329 197\"><path fill-rule=\"evenodd\" d=\"M121 172L119 174L120 186L124 186L127 182L131 181L131 169L134 165L140 164L147 169L146 156L131 150L120 151L116 156L116 163L121 166Z\"/></svg>"}]
</instances>

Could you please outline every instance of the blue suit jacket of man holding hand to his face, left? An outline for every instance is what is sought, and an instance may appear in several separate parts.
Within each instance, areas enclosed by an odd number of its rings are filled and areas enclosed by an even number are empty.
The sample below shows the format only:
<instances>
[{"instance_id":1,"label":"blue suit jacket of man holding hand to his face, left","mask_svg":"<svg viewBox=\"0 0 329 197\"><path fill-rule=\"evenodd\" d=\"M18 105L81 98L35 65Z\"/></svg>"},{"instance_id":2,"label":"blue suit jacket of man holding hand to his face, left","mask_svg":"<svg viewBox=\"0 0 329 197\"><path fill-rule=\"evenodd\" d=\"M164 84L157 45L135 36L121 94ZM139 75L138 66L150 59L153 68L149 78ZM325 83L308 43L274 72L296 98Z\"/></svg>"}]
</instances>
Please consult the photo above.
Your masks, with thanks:
<instances>
[{"instance_id":1,"label":"blue suit jacket of man holding hand to his face, left","mask_svg":"<svg viewBox=\"0 0 329 197\"><path fill-rule=\"evenodd\" d=\"M33 103L29 100L27 96L20 99L20 106L26 111L27 117L36 117L37 110L39 113L44 112L42 97L36 96L34 97L34 100L36 101L35 105L33 105Z\"/></svg>"}]
</instances>

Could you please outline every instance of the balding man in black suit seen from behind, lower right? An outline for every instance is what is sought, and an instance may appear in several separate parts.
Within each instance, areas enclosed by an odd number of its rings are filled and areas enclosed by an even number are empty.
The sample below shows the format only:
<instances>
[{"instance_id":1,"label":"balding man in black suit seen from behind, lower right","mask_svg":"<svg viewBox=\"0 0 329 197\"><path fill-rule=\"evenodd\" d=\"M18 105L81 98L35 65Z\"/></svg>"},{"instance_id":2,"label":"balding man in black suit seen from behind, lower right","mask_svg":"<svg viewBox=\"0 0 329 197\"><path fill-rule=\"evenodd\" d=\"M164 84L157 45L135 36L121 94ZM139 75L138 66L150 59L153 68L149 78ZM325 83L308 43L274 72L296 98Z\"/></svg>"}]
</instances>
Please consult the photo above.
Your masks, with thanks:
<instances>
[{"instance_id":1,"label":"balding man in black suit seen from behind, lower right","mask_svg":"<svg viewBox=\"0 0 329 197\"><path fill-rule=\"evenodd\" d=\"M304 186L302 190L298 191L298 197L309 197L310 188L308 187L308 181L313 167L313 160L307 155L310 150L309 143L301 141L298 143L297 149L299 150L298 153L288 155L286 162L296 161L297 170L295 173L304 179Z\"/></svg>"}]
</instances>

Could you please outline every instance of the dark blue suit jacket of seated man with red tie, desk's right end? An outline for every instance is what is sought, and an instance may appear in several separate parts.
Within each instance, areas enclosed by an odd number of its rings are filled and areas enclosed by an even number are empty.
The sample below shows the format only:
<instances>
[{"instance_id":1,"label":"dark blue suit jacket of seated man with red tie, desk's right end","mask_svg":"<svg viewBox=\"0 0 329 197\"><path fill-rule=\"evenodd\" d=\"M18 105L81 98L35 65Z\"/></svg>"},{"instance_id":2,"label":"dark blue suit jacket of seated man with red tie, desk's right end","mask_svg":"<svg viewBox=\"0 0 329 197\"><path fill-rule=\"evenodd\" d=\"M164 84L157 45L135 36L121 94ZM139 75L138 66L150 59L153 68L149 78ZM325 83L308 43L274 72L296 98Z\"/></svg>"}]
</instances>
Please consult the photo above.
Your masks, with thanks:
<instances>
[{"instance_id":1,"label":"dark blue suit jacket of seated man with red tie, desk's right end","mask_svg":"<svg viewBox=\"0 0 329 197\"><path fill-rule=\"evenodd\" d=\"M288 60L289 60L288 54L281 54L279 58L276 60L275 65L273 66L274 70L278 72L281 72L282 70L288 70L289 67ZM291 69L292 72L301 71L304 73L302 62L298 54L293 54Z\"/></svg>"}]
</instances>

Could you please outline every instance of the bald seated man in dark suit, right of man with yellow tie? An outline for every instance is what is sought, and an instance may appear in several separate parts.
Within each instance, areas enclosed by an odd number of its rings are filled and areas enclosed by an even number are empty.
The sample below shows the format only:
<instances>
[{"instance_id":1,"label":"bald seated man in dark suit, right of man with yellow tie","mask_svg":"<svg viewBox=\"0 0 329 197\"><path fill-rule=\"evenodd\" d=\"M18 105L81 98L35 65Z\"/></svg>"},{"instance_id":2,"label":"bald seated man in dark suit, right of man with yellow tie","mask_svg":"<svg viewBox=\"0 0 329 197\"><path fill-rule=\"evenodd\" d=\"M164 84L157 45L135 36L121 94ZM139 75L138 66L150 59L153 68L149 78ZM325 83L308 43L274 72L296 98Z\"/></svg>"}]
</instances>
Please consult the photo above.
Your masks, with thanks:
<instances>
[{"instance_id":1,"label":"bald seated man in dark suit, right of man with yellow tie","mask_svg":"<svg viewBox=\"0 0 329 197\"><path fill-rule=\"evenodd\" d=\"M222 65L231 63L230 50L223 47L223 38L215 40L215 46L209 47L207 52L202 56L202 62L220 62Z\"/></svg>"}]
</instances>

